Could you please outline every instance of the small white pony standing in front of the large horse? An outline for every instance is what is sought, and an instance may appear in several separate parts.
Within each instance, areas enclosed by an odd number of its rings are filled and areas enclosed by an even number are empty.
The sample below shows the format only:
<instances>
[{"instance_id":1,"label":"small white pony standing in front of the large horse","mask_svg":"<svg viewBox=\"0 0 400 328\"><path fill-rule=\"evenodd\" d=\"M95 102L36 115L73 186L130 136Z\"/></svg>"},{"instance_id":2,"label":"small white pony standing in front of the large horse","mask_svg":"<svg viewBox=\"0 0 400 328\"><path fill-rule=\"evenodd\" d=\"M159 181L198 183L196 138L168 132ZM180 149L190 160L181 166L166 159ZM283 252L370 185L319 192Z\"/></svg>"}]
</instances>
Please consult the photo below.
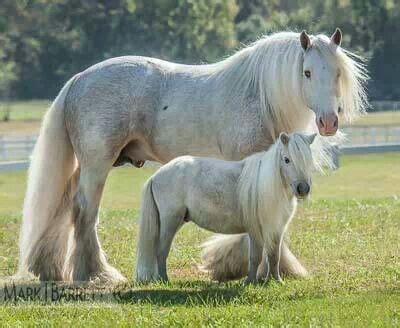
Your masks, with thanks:
<instances>
[{"instance_id":1,"label":"small white pony standing in front of the large horse","mask_svg":"<svg viewBox=\"0 0 400 328\"><path fill-rule=\"evenodd\" d=\"M217 233L248 233L246 283L270 275L281 281L282 237L295 214L296 198L311 189L314 138L281 133L268 151L242 161L182 156L158 170L143 190L137 280L168 280L172 240L185 222L193 222Z\"/></svg>"}]
</instances>

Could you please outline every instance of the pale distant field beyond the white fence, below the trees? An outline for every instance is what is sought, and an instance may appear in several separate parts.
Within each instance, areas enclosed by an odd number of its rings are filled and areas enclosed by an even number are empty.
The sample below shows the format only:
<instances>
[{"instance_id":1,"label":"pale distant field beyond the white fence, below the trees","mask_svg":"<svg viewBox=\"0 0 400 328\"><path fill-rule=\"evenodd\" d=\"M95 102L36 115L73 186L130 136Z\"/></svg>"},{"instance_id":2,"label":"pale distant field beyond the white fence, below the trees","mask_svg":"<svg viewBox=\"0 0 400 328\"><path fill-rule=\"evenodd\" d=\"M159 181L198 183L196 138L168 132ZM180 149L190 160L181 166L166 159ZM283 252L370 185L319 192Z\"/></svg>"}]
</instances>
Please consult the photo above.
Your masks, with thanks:
<instances>
[{"instance_id":1,"label":"pale distant field beyond the white fence, below the trees","mask_svg":"<svg viewBox=\"0 0 400 328\"><path fill-rule=\"evenodd\" d=\"M6 104L0 102L1 135L36 135L40 120L51 102L48 100L16 101L7 104L11 110L10 120L3 122ZM370 113L352 122L352 125L400 125L400 110Z\"/></svg>"}]
</instances>

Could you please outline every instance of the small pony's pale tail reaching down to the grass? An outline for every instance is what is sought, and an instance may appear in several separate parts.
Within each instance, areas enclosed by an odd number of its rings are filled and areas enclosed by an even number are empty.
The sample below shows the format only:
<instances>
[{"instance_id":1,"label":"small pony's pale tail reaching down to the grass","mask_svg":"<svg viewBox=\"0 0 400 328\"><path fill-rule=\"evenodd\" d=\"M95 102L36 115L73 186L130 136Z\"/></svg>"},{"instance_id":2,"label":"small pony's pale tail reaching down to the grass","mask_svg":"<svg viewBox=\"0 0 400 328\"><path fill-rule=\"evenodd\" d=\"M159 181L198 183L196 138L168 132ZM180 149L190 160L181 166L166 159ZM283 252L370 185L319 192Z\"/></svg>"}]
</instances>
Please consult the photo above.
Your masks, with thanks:
<instances>
[{"instance_id":1,"label":"small pony's pale tail reaching down to the grass","mask_svg":"<svg viewBox=\"0 0 400 328\"><path fill-rule=\"evenodd\" d=\"M139 282L157 280L157 246L160 235L160 216L154 200L152 179L143 188L139 224L136 279Z\"/></svg>"}]
</instances>

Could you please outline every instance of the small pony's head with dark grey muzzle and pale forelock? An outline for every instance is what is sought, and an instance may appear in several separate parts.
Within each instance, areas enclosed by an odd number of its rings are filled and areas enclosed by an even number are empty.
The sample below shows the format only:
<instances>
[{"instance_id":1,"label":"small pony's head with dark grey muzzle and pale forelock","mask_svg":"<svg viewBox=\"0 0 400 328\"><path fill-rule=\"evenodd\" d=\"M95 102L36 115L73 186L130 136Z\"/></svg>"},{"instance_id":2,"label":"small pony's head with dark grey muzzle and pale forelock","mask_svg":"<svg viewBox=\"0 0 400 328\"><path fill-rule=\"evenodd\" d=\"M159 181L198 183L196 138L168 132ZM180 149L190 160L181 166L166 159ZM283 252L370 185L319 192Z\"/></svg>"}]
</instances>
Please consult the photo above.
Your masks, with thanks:
<instances>
[{"instance_id":1,"label":"small pony's head with dark grey muzzle and pale forelock","mask_svg":"<svg viewBox=\"0 0 400 328\"><path fill-rule=\"evenodd\" d=\"M297 198L305 198L311 191L311 173L314 161L311 144L316 134L281 133L277 144L277 161L284 185Z\"/></svg>"}]
</instances>

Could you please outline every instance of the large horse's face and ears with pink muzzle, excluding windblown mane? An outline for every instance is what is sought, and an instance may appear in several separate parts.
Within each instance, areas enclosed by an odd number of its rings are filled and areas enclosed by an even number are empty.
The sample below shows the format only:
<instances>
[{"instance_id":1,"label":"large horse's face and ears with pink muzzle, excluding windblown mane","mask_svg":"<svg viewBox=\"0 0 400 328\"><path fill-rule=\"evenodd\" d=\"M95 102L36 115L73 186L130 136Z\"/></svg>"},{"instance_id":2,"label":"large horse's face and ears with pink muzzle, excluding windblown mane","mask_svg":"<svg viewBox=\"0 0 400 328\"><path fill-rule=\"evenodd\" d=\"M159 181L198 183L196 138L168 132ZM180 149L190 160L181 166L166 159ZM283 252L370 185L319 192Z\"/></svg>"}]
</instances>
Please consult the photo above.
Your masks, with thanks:
<instances>
[{"instance_id":1,"label":"large horse's face and ears with pink muzzle, excluding windblown mane","mask_svg":"<svg viewBox=\"0 0 400 328\"><path fill-rule=\"evenodd\" d=\"M302 70L303 96L306 105L316 116L318 131L322 136L334 135L338 129L340 103L340 65L336 51L342 41L342 32L336 29L331 38L310 37L300 34L304 50Z\"/></svg>"}]
</instances>

